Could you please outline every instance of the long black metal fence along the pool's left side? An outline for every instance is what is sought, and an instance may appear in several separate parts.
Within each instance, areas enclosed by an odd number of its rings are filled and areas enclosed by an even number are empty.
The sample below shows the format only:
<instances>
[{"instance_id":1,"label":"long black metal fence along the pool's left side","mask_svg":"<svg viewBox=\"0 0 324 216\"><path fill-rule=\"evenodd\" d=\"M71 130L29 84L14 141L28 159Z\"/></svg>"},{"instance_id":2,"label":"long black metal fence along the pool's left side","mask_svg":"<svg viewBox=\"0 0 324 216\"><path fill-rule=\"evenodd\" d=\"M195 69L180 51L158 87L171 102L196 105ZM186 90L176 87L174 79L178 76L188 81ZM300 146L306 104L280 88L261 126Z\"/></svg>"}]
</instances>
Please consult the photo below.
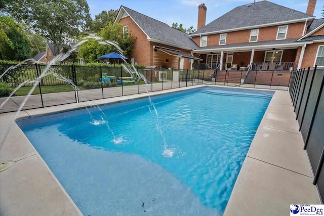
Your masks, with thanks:
<instances>
[{"instance_id":1,"label":"long black metal fence along the pool's left side","mask_svg":"<svg viewBox=\"0 0 324 216\"><path fill-rule=\"evenodd\" d=\"M13 65L0 64L0 74L10 66ZM0 81L6 82L12 91L23 82L35 80L46 67L47 65L23 64L8 71ZM125 70L123 67L53 65L48 68L48 75L39 82L23 109L182 88L204 82L203 71L199 70L165 68L136 68L136 70L143 74L147 83L136 75L134 68ZM24 83L3 105L0 113L18 110L32 85L33 83ZM75 89L73 85L77 88ZM6 99L7 97L0 97L0 104Z\"/></svg>"}]
</instances>

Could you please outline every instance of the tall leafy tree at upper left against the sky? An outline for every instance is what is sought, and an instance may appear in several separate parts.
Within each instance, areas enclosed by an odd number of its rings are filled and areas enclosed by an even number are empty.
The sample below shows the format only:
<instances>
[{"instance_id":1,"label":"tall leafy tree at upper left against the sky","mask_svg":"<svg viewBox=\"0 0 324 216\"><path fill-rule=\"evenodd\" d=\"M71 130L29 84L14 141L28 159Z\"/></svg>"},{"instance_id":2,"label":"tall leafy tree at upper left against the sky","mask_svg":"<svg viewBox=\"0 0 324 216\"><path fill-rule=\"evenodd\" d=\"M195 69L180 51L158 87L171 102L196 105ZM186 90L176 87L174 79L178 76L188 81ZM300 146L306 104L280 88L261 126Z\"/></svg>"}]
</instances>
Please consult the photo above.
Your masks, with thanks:
<instances>
[{"instance_id":1,"label":"tall leafy tree at upper left against the sky","mask_svg":"<svg viewBox=\"0 0 324 216\"><path fill-rule=\"evenodd\" d=\"M52 42L55 53L91 21L86 0L15 0L5 11Z\"/></svg>"}]
</instances>

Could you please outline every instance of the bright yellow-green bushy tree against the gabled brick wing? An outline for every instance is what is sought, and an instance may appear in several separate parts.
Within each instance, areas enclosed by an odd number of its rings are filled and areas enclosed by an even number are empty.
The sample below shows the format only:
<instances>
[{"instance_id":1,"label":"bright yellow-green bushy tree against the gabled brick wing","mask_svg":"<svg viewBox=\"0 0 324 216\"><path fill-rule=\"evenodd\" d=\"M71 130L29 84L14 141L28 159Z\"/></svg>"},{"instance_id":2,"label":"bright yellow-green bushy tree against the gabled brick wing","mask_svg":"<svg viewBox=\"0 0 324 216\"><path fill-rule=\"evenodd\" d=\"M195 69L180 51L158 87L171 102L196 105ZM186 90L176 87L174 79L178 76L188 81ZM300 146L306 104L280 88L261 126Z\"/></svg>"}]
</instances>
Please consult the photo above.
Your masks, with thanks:
<instances>
[{"instance_id":1,"label":"bright yellow-green bushy tree against the gabled brick wing","mask_svg":"<svg viewBox=\"0 0 324 216\"><path fill-rule=\"evenodd\" d=\"M103 27L99 33L104 40L116 41L119 47L124 51L124 55L127 57L133 52L133 46L135 44L135 38L129 33L128 36L123 35L123 25L120 23L113 25L109 23ZM112 45L99 45L94 39L90 39L85 44L79 46L78 55L86 62L96 62L99 56L107 53L117 52L117 49Z\"/></svg>"}]
</instances>

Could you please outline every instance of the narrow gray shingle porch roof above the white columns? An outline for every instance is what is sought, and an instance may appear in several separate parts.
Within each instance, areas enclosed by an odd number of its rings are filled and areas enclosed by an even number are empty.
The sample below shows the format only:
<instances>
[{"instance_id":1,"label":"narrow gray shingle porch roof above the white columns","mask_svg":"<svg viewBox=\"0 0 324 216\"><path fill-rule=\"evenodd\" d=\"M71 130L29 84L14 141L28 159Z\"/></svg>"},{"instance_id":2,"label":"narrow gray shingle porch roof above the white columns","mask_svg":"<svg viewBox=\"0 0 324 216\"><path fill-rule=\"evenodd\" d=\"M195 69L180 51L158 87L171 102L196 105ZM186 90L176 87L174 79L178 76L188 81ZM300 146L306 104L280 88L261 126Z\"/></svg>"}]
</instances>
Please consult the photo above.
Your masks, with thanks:
<instances>
[{"instance_id":1,"label":"narrow gray shingle porch roof above the white columns","mask_svg":"<svg viewBox=\"0 0 324 216\"><path fill-rule=\"evenodd\" d=\"M213 47L200 47L196 50L212 50L212 49L223 49L223 48L236 48L236 47L254 47L254 46L263 46L263 45L280 45L280 44L292 44L298 38L286 39L286 40L270 40L270 41L260 41L260 42L248 42L243 44L229 44L222 46L213 46Z\"/></svg>"}]
</instances>

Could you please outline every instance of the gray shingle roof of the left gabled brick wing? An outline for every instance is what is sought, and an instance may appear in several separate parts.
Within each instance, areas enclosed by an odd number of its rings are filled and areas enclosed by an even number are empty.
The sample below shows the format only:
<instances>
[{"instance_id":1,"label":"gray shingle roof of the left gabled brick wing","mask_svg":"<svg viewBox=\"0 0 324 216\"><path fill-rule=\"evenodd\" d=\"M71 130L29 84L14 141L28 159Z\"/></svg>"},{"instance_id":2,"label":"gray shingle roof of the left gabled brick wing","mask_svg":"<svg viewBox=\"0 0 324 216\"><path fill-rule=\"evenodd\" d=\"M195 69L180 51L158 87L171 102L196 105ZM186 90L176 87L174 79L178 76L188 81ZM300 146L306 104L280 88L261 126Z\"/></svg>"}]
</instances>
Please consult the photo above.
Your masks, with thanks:
<instances>
[{"instance_id":1,"label":"gray shingle roof of the left gabled brick wing","mask_svg":"<svg viewBox=\"0 0 324 216\"><path fill-rule=\"evenodd\" d=\"M196 49L198 46L193 42L191 36L170 27L166 23L160 22L141 13L133 11L125 6L121 6L135 20L135 22L143 29L143 31L153 39L165 41L177 46L190 49Z\"/></svg>"}]
</instances>

